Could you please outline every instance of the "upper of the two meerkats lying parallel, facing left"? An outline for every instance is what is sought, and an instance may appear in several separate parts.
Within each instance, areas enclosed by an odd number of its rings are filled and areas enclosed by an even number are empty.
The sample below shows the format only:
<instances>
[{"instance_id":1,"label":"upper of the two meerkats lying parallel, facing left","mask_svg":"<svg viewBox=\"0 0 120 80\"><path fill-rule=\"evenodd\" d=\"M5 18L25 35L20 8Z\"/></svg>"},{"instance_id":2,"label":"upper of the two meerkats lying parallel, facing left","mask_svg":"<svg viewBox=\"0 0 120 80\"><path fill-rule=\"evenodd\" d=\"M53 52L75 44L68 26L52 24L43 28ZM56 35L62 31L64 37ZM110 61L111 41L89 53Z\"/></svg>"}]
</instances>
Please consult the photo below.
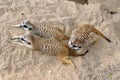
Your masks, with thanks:
<instances>
[{"instance_id":1,"label":"upper of the two meerkats lying parallel, facing left","mask_svg":"<svg viewBox=\"0 0 120 80\"><path fill-rule=\"evenodd\" d=\"M43 38L53 37L57 40L68 40L69 39L69 37L67 37L64 34L64 30L60 29L60 27L52 27L50 23L43 22L43 23L40 23L39 27L36 27L30 21L25 20L21 24L12 25L12 26L23 28L26 31L26 33L32 33L34 35L37 35Z\"/></svg>"}]
</instances>

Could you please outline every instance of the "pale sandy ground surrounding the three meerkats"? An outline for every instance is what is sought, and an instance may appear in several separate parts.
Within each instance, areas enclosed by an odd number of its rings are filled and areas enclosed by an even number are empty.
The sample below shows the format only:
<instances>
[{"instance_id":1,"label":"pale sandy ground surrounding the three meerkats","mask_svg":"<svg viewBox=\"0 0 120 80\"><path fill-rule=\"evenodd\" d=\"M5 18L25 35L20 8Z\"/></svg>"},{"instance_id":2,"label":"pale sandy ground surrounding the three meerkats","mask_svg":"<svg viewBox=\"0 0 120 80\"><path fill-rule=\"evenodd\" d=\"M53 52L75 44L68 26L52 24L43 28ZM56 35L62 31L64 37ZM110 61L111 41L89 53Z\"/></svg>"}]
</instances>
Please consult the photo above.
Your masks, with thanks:
<instances>
[{"instance_id":1,"label":"pale sandy ground surrounding the three meerkats","mask_svg":"<svg viewBox=\"0 0 120 80\"><path fill-rule=\"evenodd\" d=\"M0 80L120 80L119 3L119 0L88 0L88 5L62 0L0 0ZM54 56L7 43L8 38L24 33L11 25L25 19L38 27L43 21L62 22L68 36L81 21L88 21L112 42L101 39L84 57L71 57L76 65L73 69Z\"/></svg>"}]
</instances>

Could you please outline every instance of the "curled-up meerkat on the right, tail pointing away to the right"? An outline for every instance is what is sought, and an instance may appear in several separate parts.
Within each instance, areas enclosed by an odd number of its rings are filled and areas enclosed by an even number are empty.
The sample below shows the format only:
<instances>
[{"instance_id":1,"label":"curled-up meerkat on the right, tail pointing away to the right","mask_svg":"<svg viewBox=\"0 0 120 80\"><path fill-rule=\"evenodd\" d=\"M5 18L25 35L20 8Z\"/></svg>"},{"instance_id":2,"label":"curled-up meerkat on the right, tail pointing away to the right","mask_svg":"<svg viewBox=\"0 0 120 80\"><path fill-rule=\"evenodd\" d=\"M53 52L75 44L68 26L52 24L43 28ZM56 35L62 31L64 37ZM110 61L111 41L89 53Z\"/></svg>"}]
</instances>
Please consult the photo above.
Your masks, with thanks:
<instances>
[{"instance_id":1,"label":"curled-up meerkat on the right, tail pointing away to the right","mask_svg":"<svg viewBox=\"0 0 120 80\"><path fill-rule=\"evenodd\" d=\"M79 52L80 49L86 48L88 52L89 46L98 42L99 37L111 42L100 31L94 28L91 24L82 24L72 31L68 45L71 49Z\"/></svg>"}]
</instances>

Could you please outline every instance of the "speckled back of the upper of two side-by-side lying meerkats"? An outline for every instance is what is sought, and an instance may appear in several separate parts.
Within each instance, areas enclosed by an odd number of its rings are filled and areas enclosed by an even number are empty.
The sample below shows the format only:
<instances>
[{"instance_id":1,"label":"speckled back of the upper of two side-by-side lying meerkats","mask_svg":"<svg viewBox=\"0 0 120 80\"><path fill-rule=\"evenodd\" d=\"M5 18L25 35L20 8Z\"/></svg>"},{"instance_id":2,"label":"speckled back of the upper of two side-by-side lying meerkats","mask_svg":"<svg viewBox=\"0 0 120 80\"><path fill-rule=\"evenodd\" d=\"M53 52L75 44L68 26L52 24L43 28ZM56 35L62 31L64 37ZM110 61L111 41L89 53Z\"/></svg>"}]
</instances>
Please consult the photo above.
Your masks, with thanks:
<instances>
[{"instance_id":1,"label":"speckled back of the upper of two side-by-side lying meerkats","mask_svg":"<svg viewBox=\"0 0 120 80\"><path fill-rule=\"evenodd\" d=\"M58 25L62 26L62 25ZM62 29L59 27L52 27L51 23L41 23L38 27L38 31L35 33L37 35L40 35L44 38L55 38L57 40L66 40L69 39Z\"/></svg>"}]
</instances>

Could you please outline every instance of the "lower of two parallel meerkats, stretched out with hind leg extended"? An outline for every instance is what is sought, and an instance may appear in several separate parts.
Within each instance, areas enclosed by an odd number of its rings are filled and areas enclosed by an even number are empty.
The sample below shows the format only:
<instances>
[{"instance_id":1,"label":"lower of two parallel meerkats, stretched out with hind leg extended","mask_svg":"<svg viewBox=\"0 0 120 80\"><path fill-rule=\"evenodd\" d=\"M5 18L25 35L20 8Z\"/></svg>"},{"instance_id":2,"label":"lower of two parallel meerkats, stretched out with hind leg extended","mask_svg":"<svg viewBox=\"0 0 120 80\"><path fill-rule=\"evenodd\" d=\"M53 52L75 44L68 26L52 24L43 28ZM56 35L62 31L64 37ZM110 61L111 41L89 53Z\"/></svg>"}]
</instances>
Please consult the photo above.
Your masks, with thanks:
<instances>
[{"instance_id":1,"label":"lower of two parallel meerkats, stretched out with hind leg extended","mask_svg":"<svg viewBox=\"0 0 120 80\"><path fill-rule=\"evenodd\" d=\"M33 50L39 50L44 54L55 55L58 60L66 64L71 64L73 67L74 64L68 56L77 57L86 54L75 54L68 45L63 44L54 38L42 38L32 35L31 33L13 37L10 39L10 42Z\"/></svg>"}]
</instances>

